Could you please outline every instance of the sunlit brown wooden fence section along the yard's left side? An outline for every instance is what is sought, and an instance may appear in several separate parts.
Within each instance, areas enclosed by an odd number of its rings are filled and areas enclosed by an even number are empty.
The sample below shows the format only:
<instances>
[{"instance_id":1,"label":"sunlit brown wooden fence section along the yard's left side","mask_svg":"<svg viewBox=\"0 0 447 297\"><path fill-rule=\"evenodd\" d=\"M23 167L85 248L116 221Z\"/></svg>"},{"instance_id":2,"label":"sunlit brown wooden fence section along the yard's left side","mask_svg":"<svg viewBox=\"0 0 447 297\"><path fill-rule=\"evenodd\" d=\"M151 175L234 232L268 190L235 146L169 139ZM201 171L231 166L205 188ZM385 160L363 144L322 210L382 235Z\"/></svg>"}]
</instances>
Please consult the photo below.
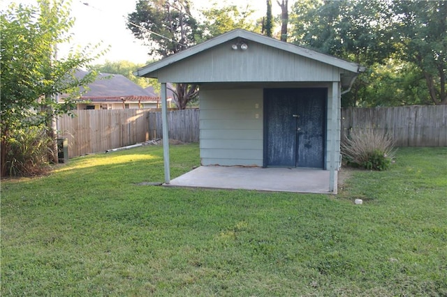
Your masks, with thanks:
<instances>
[{"instance_id":1,"label":"sunlit brown wooden fence section along the yard's left side","mask_svg":"<svg viewBox=\"0 0 447 297\"><path fill-rule=\"evenodd\" d=\"M76 110L74 114L59 118L69 158L149 140L149 109Z\"/></svg>"}]
</instances>

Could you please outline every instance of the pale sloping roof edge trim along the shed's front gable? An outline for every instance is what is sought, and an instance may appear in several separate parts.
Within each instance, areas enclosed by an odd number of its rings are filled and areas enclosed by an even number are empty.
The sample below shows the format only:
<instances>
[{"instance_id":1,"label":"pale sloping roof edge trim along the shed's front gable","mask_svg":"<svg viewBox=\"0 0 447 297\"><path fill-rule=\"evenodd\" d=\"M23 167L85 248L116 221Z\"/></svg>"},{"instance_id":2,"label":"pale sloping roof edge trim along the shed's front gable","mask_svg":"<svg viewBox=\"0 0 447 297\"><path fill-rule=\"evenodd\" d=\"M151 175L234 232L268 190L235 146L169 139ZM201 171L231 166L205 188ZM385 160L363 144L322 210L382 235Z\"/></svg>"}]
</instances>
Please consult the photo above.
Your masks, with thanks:
<instances>
[{"instance_id":1,"label":"pale sloping roof edge trim along the shed's front gable","mask_svg":"<svg viewBox=\"0 0 447 297\"><path fill-rule=\"evenodd\" d=\"M328 54L322 54L320 52L316 52L314 50L309 50L305 47L300 47L298 45L293 45L291 43L285 43L281 40L277 40L274 38L270 38L267 36L260 35L258 33L246 31L243 29L235 29L233 31L229 31L227 33L223 33L220 36L212 38L210 40L205 41L204 43L200 43L199 45L195 45L193 47L189 47L182 52L178 52L177 54L173 54L168 56L160 61L155 63L151 63L145 67L142 67L135 71L134 75L140 77L157 77L156 71L165 68L166 66L170 66L173 63L177 63L186 58L194 56L200 52L205 50L209 50L212 47L217 47L223 43L226 43L230 40L237 40L238 38L244 40L250 40L254 43L259 43L261 45L266 45L268 47L272 47L277 50L283 50L285 52L289 52L291 54L296 54L298 56L305 57L307 59L311 59L314 61L318 61L321 63L325 63L329 66L334 66L340 68L342 70L349 71L351 73L360 73L365 70L362 66L359 66L357 63L352 63L349 61L345 61L343 59L339 59L335 56L330 56Z\"/></svg>"}]
</instances>

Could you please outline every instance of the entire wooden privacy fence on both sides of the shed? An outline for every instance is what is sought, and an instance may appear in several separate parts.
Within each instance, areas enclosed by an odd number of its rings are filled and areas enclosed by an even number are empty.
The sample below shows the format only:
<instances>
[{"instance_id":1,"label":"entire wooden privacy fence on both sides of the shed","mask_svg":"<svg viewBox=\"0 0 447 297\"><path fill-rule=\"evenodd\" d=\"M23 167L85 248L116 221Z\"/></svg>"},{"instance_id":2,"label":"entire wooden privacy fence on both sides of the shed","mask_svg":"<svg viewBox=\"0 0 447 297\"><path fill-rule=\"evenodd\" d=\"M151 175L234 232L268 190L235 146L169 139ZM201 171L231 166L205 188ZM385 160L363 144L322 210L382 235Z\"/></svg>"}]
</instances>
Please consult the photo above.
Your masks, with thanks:
<instances>
[{"instance_id":1,"label":"entire wooden privacy fence on both sides of the shed","mask_svg":"<svg viewBox=\"0 0 447 297\"><path fill-rule=\"evenodd\" d=\"M168 112L169 138L199 142L198 109ZM70 158L163 137L161 112L150 109L77 110L61 116ZM351 129L387 132L396 146L447 146L447 105L342 109L342 134Z\"/></svg>"}]
</instances>

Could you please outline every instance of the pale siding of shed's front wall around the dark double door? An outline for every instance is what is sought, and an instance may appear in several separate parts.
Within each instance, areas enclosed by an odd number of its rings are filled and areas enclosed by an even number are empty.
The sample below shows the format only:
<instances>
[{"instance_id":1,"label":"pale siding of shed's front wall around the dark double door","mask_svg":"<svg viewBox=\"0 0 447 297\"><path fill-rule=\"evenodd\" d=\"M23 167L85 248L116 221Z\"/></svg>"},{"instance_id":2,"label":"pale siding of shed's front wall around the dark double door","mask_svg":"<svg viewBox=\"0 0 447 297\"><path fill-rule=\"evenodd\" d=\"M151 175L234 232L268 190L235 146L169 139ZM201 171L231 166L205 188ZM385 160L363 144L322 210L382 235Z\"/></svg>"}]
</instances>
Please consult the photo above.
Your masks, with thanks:
<instances>
[{"instance_id":1,"label":"pale siding of shed's front wall around the dark double door","mask_svg":"<svg viewBox=\"0 0 447 297\"><path fill-rule=\"evenodd\" d=\"M328 88L325 168L330 168L332 142L335 142L335 163L339 168L340 110L338 98L332 102L332 83L285 86ZM200 158L204 166L263 166L264 86L239 88L200 86ZM337 106L337 110L334 111L332 106ZM332 116L337 119L335 127L332 127Z\"/></svg>"}]
</instances>

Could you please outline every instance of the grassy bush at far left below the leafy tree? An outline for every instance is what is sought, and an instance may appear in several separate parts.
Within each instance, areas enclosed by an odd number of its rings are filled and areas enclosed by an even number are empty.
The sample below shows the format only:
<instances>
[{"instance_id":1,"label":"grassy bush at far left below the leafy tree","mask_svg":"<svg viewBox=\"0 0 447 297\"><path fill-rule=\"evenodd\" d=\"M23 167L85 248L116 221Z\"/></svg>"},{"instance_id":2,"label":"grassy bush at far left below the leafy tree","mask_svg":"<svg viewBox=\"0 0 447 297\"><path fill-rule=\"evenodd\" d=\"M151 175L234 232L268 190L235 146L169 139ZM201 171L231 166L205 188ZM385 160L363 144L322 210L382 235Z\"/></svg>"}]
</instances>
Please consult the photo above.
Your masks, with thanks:
<instances>
[{"instance_id":1,"label":"grassy bush at far left below the leafy tree","mask_svg":"<svg viewBox=\"0 0 447 297\"><path fill-rule=\"evenodd\" d=\"M6 168L9 176L35 176L47 172L52 140L45 129L31 127L14 131L8 142Z\"/></svg>"}]
</instances>

